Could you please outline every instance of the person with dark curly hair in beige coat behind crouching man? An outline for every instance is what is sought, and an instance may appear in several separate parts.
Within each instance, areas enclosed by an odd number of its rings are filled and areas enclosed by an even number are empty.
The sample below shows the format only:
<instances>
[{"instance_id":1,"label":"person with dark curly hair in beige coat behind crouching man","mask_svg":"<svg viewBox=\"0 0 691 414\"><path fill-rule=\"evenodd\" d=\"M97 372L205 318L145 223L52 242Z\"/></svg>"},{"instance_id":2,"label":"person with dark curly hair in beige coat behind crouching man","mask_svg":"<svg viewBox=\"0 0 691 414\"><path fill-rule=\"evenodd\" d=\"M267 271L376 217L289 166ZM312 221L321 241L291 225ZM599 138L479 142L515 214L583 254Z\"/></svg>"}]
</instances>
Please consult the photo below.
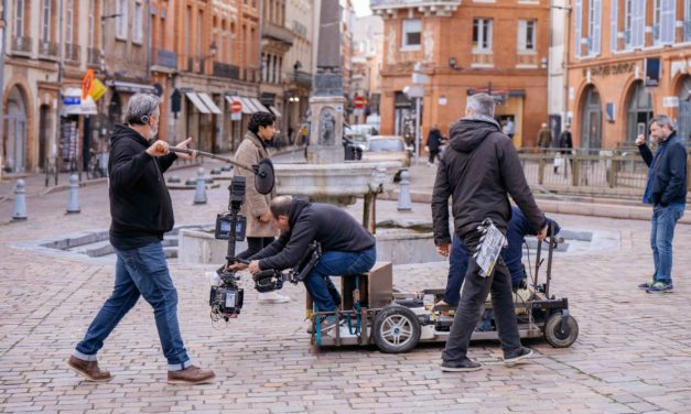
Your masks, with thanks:
<instances>
[{"instance_id":1,"label":"person with dark curly hair in beige coat behind crouching man","mask_svg":"<svg viewBox=\"0 0 691 414\"><path fill-rule=\"evenodd\" d=\"M255 112L249 119L247 134L235 153L235 161L247 165L259 164L269 157L267 142L276 134L276 117L270 112ZM244 175L247 181L253 181L253 174L242 168L236 168L235 175ZM247 186L246 201L240 213L247 217L247 250L237 254L238 259L248 259L261 249L271 244L277 230L271 226L269 203L276 197L276 188L270 194L259 194L253 185ZM279 295L278 292L259 293L259 301L272 303L290 302L290 297Z\"/></svg>"}]
</instances>

